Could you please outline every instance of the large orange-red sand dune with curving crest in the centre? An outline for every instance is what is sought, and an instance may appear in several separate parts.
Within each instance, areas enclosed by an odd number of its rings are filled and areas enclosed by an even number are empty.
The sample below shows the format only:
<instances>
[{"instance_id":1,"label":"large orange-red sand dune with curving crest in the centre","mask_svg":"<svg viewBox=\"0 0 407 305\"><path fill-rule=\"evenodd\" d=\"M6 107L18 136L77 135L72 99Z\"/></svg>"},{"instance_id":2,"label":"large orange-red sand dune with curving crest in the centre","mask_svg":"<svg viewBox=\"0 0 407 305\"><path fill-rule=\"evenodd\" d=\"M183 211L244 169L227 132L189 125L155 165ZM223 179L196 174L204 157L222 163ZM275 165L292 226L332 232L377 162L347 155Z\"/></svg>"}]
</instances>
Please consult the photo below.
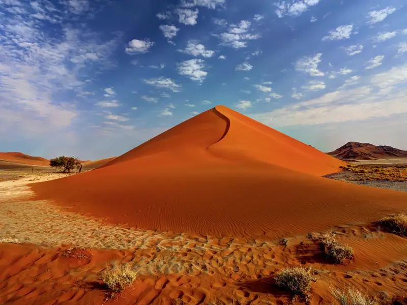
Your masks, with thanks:
<instances>
[{"instance_id":1,"label":"large orange-red sand dune with curving crest in the centre","mask_svg":"<svg viewBox=\"0 0 407 305\"><path fill-rule=\"evenodd\" d=\"M321 177L343 164L217 106L96 171L31 186L111 223L216 236L306 234L407 208L406 193Z\"/></svg>"}]
</instances>

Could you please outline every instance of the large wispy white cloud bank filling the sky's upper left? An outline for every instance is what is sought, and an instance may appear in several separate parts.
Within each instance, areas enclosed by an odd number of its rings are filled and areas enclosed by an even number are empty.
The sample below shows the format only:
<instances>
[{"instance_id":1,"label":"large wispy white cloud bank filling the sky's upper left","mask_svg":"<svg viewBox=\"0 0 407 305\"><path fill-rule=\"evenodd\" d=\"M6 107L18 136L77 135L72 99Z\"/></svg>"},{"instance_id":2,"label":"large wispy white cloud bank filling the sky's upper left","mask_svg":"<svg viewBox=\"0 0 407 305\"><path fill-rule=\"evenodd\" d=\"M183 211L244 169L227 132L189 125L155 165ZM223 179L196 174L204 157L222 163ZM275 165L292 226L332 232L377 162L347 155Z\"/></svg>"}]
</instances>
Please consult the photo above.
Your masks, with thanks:
<instances>
[{"instance_id":1,"label":"large wispy white cloud bank filling the sky's upper left","mask_svg":"<svg viewBox=\"0 0 407 305\"><path fill-rule=\"evenodd\" d=\"M62 128L74 134L72 125L82 119L80 100L89 92L86 79L112 66L119 45L117 36L105 40L89 27L62 22L79 18L72 16L80 13L74 11L77 3L51 11L53 5L45 1L1 1L0 134L13 130L16 138L34 138L48 133L41 143Z\"/></svg>"}]
</instances>

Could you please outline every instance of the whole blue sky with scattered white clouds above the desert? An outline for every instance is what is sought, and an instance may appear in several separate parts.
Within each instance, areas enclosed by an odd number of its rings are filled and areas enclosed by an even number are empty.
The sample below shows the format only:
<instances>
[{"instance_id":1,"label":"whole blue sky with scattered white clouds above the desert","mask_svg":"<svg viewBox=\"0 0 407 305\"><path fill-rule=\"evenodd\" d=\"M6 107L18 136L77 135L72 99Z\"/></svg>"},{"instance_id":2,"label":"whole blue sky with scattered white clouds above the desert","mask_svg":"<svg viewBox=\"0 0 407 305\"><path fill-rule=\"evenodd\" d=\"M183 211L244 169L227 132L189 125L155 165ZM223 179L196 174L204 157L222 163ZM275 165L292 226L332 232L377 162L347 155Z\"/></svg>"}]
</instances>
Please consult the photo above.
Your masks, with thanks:
<instances>
[{"instance_id":1,"label":"whole blue sky with scattered white clouds above the desert","mask_svg":"<svg viewBox=\"0 0 407 305\"><path fill-rule=\"evenodd\" d=\"M407 149L403 3L0 0L0 151L117 156L219 104Z\"/></svg>"}]
</instances>

